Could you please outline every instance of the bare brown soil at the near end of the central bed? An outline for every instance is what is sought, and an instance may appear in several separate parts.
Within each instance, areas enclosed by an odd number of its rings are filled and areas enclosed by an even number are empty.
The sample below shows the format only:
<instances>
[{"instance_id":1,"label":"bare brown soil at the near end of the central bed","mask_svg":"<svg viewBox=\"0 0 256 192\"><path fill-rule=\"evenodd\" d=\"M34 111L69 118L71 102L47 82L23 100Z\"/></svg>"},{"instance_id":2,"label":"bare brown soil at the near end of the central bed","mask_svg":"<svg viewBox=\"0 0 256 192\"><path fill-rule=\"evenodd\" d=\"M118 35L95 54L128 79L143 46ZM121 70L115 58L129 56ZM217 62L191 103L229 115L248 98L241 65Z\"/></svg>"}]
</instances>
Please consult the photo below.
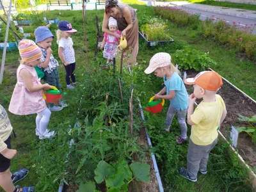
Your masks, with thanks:
<instances>
[{"instance_id":1,"label":"bare brown soil at the near end of the central bed","mask_svg":"<svg viewBox=\"0 0 256 192\"><path fill-rule=\"evenodd\" d=\"M146 132L143 128L140 129L140 135L138 136L138 144L148 146L148 141L146 137ZM152 159L150 154L146 154L147 163L150 165L150 179L149 182L141 182L141 181L132 181L128 186L129 192L148 192L148 191L159 191L159 186L157 183L156 173L154 170L154 164L152 163Z\"/></svg>"}]
</instances>

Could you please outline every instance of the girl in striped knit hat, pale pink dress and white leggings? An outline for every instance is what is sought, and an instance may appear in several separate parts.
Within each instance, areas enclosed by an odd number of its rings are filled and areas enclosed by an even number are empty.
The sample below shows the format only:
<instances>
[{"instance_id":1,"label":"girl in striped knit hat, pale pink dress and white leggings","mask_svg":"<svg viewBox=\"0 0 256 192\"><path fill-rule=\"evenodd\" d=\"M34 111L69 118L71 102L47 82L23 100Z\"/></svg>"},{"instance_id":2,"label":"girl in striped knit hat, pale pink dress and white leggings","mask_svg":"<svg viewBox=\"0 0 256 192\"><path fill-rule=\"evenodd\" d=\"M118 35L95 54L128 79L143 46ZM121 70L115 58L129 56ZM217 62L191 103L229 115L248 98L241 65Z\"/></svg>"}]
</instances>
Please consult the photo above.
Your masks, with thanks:
<instances>
[{"instance_id":1,"label":"girl in striped knit hat, pale pink dress and white leggings","mask_svg":"<svg viewBox=\"0 0 256 192\"><path fill-rule=\"evenodd\" d=\"M47 108L43 90L51 89L48 83L41 84L34 67L41 63L42 51L32 40L19 43L20 65L17 69L17 84L13 90L9 111L15 115L36 116L36 136L39 139L51 138L54 131L49 132L51 111Z\"/></svg>"}]
</instances>

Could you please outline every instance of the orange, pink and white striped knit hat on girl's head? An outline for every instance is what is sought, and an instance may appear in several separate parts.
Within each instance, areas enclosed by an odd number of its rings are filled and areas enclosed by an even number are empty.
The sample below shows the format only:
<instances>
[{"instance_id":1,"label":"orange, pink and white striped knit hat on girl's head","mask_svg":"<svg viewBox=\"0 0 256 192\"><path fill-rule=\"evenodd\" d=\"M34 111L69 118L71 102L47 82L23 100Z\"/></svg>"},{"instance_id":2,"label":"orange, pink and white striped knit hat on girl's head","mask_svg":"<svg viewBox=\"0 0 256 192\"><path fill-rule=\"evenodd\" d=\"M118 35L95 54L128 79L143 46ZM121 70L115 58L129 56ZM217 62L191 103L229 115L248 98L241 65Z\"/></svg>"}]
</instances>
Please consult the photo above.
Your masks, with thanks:
<instances>
[{"instance_id":1,"label":"orange, pink and white striped knit hat on girl's head","mask_svg":"<svg viewBox=\"0 0 256 192\"><path fill-rule=\"evenodd\" d=\"M24 62L30 63L42 58L42 51L33 40L21 40L19 43L19 52L20 57Z\"/></svg>"}]
</instances>

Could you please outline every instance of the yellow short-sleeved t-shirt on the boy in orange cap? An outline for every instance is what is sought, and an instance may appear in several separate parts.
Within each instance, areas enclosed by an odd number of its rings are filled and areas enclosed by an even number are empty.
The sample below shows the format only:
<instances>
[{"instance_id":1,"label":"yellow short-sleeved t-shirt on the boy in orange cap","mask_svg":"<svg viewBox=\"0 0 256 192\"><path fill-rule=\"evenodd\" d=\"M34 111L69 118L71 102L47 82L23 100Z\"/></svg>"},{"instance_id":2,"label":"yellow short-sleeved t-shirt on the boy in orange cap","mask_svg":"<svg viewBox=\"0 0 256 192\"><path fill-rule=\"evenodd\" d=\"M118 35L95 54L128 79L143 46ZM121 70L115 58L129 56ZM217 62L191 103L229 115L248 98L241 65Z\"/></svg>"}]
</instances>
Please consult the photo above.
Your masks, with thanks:
<instances>
[{"instance_id":1,"label":"yellow short-sleeved t-shirt on the boy in orange cap","mask_svg":"<svg viewBox=\"0 0 256 192\"><path fill-rule=\"evenodd\" d=\"M218 138L218 127L221 115L226 109L220 95L216 94L214 102L200 102L190 116L195 125L192 125L190 139L196 145L210 145Z\"/></svg>"}]
</instances>

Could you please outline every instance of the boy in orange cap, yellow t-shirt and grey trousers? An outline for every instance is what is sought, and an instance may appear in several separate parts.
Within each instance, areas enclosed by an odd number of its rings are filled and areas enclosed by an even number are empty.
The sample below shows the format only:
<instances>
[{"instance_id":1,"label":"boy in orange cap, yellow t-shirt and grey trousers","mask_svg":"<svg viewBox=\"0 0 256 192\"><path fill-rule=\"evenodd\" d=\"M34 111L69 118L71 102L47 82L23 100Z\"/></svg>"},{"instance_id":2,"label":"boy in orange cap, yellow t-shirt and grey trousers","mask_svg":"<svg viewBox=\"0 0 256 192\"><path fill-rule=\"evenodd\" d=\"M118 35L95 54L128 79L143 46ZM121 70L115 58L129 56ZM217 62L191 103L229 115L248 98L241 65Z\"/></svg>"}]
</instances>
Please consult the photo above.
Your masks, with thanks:
<instances>
[{"instance_id":1,"label":"boy in orange cap, yellow t-shirt and grey trousers","mask_svg":"<svg viewBox=\"0 0 256 192\"><path fill-rule=\"evenodd\" d=\"M189 96L188 124L192 126L189 140L187 168L180 168L182 177L196 182L198 171L207 173L207 161L212 148L218 143L218 127L225 119L227 110L220 95L221 76L212 71L200 72L196 77L186 79L193 84L194 92ZM196 99L203 98L194 111Z\"/></svg>"}]
</instances>

